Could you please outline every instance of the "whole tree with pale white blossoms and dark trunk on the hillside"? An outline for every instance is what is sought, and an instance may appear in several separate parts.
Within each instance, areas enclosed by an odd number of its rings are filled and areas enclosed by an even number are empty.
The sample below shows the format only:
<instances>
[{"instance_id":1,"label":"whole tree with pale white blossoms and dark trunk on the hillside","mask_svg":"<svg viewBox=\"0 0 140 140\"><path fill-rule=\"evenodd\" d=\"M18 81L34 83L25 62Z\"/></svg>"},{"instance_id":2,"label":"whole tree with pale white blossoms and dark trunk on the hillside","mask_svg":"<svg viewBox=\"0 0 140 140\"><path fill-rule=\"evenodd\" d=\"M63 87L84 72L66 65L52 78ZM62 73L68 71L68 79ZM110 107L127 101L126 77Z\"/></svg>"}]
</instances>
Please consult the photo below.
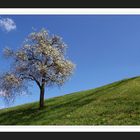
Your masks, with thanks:
<instances>
[{"instance_id":1,"label":"whole tree with pale white blossoms and dark trunk on the hillside","mask_svg":"<svg viewBox=\"0 0 140 140\"><path fill-rule=\"evenodd\" d=\"M0 79L5 97L12 99L35 82L40 89L39 108L43 108L45 87L61 86L73 73L75 65L65 58L66 48L61 37L49 35L46 29L29 34L17 51L5 48L4 55L13 58L10 72Z\"/></svg>"}]
</instances>

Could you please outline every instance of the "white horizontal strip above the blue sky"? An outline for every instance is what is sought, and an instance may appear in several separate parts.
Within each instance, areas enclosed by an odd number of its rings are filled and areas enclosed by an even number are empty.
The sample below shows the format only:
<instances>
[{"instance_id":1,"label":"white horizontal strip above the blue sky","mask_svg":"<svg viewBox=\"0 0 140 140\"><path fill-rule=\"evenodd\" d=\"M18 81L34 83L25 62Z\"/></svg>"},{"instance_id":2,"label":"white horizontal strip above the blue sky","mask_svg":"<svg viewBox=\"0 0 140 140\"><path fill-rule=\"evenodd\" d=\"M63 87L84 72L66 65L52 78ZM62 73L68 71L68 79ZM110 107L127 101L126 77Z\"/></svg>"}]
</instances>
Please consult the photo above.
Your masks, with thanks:
<instances>
[{"instance_id":1,"label":"white horizontal strip above the blue sky","mask_svg":"<svg viewBox=\"0 0 140 140\"><path fill-rule=\"evenodd\" d=\"M1 15L140 15L140 8L4 8Z\"/></svg>"}]
</instances>

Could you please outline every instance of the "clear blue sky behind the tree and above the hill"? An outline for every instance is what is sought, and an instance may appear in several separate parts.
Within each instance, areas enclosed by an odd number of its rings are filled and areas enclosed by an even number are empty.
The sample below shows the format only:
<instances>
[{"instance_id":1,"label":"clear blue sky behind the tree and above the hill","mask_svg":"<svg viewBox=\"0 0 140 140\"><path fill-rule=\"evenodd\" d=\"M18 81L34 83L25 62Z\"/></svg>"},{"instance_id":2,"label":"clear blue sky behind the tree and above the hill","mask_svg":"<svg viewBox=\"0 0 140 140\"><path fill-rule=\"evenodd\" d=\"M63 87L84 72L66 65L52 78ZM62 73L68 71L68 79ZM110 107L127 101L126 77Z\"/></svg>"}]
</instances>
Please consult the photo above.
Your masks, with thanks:
<instances>
[{"instance_id":1,"label":"clear blue sky behind the tree and above the hill","mask_svg":"<svg viewBox=\"0 0 140 140\"><path fill-rule=\"evenodd\" d=\"M14 22L11 28L2 26L4 19ZM68 45L67 56L76 64L71 79L60 89L46 89L46 98L140 75L140 16L129 15L1 15L0 73L10 66L2 56L3 48L21 47L33 27L44 27L63 37ZM38 88L30 90L31 95L17 97L12 106L38 101ZM0 107L4 106L0 99Z\"/></svg>"}]
</instances>

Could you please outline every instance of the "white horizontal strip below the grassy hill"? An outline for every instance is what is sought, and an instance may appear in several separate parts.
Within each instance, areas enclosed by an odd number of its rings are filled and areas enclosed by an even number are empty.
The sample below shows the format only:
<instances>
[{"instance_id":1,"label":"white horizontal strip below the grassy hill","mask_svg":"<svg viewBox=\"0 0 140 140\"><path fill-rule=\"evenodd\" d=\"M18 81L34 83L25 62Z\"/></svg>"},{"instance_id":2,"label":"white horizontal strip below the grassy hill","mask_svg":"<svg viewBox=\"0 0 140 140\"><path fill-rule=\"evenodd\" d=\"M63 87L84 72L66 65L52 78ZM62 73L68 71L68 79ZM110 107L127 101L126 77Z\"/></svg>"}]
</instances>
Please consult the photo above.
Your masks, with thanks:
<instances>
[{"instance_id":1,"label":"white horizontal strip below the grassy hill","mask_svg":"<svg viewBox=\"0 0 140 140\"><path fill-rule=\"evenodd\" d=\"M0 126L1 132L140 132L140 126Z\"/></svg>"}]
</instances>

